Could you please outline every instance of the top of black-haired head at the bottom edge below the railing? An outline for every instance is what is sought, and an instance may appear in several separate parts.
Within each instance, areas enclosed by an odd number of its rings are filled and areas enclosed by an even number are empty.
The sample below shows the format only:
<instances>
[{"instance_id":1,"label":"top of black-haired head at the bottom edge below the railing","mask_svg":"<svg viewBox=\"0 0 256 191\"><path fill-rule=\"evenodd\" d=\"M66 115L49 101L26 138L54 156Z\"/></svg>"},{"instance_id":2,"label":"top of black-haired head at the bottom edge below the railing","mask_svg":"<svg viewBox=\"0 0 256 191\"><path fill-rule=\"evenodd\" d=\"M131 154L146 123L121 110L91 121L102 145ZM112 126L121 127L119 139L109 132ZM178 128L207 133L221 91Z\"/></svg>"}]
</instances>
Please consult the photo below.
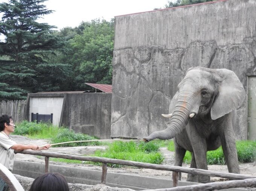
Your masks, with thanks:
<instances>
[{"instance_id":1,"label":"top of black-haired head at the bottom edge below the railing","mask_svg":"<svg viewBox=\"0 0 256 191\"><path fill-rule=\"evenodd\" d=\"M69 186L62 174L46 173L34 180L29 191L69 191Z\"/></svg>"}]
</instances>

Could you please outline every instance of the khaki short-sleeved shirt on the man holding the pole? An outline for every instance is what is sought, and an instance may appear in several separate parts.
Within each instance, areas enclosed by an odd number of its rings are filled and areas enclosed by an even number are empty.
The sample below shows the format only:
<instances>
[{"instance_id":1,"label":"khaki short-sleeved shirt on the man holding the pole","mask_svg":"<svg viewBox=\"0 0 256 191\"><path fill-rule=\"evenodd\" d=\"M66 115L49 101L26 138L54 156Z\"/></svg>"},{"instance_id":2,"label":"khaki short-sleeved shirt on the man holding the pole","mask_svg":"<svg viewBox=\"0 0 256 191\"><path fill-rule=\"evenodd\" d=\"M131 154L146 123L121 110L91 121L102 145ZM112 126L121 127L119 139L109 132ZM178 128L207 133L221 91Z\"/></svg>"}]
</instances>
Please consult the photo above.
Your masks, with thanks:
<instances>
[{"instance_id":1,"label":"khaki short-sleeved shirt on the man holding the pole","mask_svg":"<svg viewBox=\"0 0 256 191\"><path fill-rule=\"evenodd\" d=\"M10 136L0 132L0 163L9 170L12 170L14 164L14 149L10 149L14 144L17 143Z\"/></svg>"}]
</instances>

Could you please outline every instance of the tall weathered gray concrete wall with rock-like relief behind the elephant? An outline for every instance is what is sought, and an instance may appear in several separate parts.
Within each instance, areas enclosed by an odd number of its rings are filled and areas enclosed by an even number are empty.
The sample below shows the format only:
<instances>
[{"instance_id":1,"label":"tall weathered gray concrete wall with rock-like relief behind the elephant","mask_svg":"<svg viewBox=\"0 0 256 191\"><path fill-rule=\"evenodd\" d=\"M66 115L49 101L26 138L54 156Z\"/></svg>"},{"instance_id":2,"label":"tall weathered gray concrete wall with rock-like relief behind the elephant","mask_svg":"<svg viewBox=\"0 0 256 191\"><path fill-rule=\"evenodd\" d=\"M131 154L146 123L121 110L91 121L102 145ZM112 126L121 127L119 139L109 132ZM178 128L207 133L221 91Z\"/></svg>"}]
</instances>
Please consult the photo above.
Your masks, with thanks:
<instances>
[{"instance_id":1,"label":"tall weathered gray concrete wall with rock-like relief behind the elephant","mask_svg":"<svg viewBox=\"0 0 256 191\"><path fill-rule=\"evenodd\" d=\"M115 17L111 137L165 128L169 102L192 66L227 68L247 91L256 75L256 1L220 0ZM247 99L235 135L247 139ZM256 137L255 137L256 138Z\"/></svg>"}]
</instances>

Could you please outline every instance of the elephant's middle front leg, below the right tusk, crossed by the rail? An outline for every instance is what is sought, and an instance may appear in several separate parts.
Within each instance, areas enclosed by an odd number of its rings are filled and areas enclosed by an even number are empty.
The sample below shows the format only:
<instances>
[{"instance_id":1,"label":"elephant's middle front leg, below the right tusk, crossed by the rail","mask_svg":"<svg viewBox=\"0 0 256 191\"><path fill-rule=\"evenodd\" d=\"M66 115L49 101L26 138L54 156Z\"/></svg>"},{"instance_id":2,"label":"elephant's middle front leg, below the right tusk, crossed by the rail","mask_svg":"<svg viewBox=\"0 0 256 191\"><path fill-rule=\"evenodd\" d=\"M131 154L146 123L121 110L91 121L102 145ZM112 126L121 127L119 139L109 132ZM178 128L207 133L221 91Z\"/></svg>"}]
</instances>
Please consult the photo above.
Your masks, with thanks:
<instances>
[{"instance_id":1,"label":"elephant's middle front leg, below the right tusk, crossed by the rail","mask_svg":"<svg viewBox=\"0 0 256 191\"><path fill-rule=\"evenodd\" d=\"M195 157L195 164L197 168L208 170L207 168L207 144L206 139L201 137L197 131L197 128L193 123L189 123L187 129L189 140L193 148L193 153ZM194 161L193 161L194 162ZM198 175L198 182L207 183L210 182L210 177L206 175Z\"/></svg>"}]
</instances>

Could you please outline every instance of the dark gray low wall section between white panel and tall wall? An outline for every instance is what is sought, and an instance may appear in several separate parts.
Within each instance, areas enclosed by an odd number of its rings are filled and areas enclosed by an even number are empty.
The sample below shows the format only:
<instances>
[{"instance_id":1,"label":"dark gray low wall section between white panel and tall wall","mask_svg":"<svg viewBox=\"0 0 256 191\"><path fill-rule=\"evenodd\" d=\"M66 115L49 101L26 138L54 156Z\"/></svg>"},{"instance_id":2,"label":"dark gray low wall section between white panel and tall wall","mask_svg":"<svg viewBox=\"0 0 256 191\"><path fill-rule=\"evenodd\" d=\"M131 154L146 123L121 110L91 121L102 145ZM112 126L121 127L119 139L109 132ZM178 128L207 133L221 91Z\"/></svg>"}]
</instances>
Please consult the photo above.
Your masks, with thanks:
<instances>
[{"instance_id":1,"label":"dark gray low wall section between white panel and tall wall","mask_svg":"<svg viewBox=\"0 0 256 191\"><path fill-rule=\"evenodd\" d=\"M110 138L111 96L111 93L67 94L61 125L101 139Z\"/></svg>"}]
</instances>

